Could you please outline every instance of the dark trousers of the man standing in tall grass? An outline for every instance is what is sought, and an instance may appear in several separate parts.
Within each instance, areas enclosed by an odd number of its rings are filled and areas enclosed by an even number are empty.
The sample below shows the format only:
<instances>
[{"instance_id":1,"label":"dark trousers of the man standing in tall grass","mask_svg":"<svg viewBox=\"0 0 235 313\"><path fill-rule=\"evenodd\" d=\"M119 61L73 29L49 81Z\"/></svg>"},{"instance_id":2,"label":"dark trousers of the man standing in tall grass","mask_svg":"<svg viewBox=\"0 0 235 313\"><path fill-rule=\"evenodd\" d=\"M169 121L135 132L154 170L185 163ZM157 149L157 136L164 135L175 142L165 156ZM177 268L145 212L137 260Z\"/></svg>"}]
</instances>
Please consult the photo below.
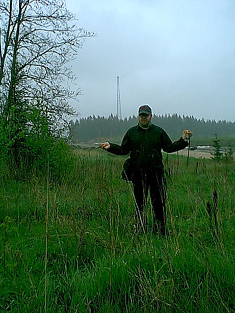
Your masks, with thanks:
<instances>
[{"instance_id":1,"label":"dark trousers of the man standing in tall grass","mask_svg":"<svg viewBox=\"0 0 235 313\"><path fill-rule=\"evenodd\" d=\"M133 180L138 227L146 229L148 191L153 208L153 231L166 234L166 180L162 171L145 171L135 175Z\"/></svg>"}]
</instances>

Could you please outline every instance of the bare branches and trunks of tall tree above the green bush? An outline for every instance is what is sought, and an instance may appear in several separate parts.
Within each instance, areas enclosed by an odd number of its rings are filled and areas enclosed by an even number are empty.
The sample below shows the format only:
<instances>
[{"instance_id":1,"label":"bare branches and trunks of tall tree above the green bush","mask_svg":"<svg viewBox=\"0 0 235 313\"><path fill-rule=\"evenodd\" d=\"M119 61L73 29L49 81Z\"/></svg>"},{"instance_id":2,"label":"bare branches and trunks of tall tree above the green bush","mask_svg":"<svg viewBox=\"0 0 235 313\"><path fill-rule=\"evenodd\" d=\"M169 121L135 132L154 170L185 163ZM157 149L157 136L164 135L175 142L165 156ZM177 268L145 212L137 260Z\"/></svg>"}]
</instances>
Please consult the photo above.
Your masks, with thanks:
<instances>
[{"instance_id":1,"label":"bare branches and trunks of tall tree above the green bush","mask_svg":"<svg viewBox=\"0 0 235 313\"><path fill-rule=\"evenodd\" d=\"M94 33L77 28L63 0L0 0L0 16L2 119L11 119L19 100L58 126L74 113L68 99L81 93L68 87L76 78L68 61Z\"/></svg>"}]
</instances>

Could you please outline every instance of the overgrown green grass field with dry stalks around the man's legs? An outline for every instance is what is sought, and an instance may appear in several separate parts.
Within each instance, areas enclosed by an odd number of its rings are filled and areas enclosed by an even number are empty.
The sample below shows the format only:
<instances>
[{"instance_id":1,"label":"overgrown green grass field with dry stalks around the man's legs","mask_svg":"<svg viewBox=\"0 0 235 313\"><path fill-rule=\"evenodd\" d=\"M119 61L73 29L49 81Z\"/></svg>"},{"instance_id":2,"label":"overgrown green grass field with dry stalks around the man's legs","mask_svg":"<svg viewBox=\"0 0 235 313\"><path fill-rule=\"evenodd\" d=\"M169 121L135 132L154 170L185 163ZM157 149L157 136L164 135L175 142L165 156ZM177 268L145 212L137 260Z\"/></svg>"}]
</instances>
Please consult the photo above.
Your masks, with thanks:
<instances>
[{"instance_id":1,"label":"overgrown green grass field with dry stalks around the man's legs","mask_svg":"<svg viewBox=\"0 0 235 313\"><path fill-rule=\"evenodd\" d=\"M59 182L0 174L1 312L234 311L234 161L165 158L162 238L150 201L135 232L125 158L73 153Z\"/></svg>"}]
</instances>

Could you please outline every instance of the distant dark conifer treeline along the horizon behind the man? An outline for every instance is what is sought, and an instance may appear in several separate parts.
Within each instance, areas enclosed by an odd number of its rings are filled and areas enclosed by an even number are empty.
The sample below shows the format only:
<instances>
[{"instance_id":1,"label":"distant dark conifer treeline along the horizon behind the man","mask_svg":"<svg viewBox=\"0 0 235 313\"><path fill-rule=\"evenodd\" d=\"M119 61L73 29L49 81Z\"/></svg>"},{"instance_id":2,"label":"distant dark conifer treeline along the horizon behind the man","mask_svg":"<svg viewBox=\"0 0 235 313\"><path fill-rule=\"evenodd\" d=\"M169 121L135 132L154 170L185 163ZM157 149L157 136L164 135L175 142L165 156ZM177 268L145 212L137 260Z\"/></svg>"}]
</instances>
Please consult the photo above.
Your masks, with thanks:
<instances>
[{"instance_id":1,"label":"distant dark conifer treeline along the horizon behind the man","mask_svg":"<svg viewBox=\"0 0 235 313\"><path fill-rule=\"evenodd\" d=\"M119 120L112 114L107 117L89 116L70 121L71 139L88 142L92 139L120 139L129 127L138 123L138 118L132 116ZM216 133L220 138L235 138L235 122L225 120L196 119L193 116L180 116L177 114L153 115L152 123L165 129L173 139L181 136L184 129L190 129L197 139L213 138Z\"/></svg>"}]
</instances>

